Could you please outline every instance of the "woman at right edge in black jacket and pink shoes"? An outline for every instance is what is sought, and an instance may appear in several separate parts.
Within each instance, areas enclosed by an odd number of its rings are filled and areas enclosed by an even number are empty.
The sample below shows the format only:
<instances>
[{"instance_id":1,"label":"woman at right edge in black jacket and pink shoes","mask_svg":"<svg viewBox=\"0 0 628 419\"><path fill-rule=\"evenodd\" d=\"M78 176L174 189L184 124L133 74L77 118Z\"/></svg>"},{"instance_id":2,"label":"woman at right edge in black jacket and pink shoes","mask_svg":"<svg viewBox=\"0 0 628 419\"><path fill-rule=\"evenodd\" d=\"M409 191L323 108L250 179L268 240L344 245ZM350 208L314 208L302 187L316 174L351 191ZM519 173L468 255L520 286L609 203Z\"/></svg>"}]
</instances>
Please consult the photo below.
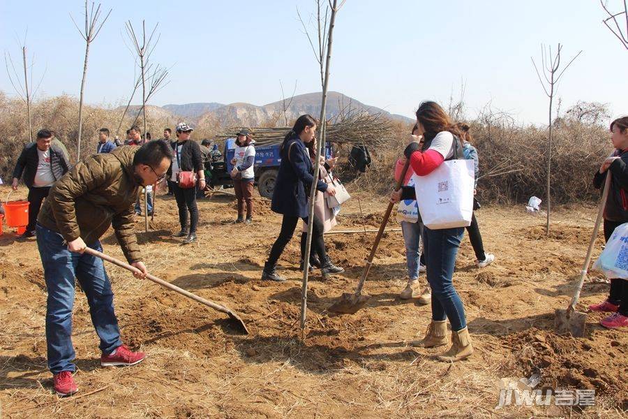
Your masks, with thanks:
<instances>
[{"instance_id":1,"label":"woman at right edge in black jacket and pink shoes","mask_svg":"<svg viewBox=\"0 0 628 419\"><path fill-rule=\"evenodd\" d=\"M615 152L601 164L595 172L593 184L601 188L607 172L611 172L611 189L608 189L604 207L604 238L608 239L615 228L628 222L628 117L611 122L611 142ZM611 279L608 298L589 306L591 311L611 313L599 323L608 329L628 328L628 280Z\"/></svg>"}]
</instances>

